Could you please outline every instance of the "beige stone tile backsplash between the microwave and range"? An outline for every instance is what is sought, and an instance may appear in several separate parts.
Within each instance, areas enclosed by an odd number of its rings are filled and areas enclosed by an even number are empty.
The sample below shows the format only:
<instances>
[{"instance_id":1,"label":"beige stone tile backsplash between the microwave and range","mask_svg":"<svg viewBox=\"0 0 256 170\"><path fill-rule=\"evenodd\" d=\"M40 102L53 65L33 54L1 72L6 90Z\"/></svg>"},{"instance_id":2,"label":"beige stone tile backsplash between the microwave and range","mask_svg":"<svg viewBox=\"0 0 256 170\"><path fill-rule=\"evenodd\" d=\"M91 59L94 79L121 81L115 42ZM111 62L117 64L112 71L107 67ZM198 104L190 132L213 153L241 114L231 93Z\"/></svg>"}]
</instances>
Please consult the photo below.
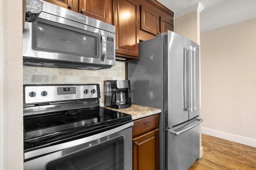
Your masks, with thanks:
<instances>
[{"instance_id":1,"label":"beige stone tile backsplash between the microwave and range","mask_svg":"<svg viewBox=\"0 0 256 170\"><path fill-rule=\"evenodd\" d=\"M100 84L100 106L105 105L105 81L124 80L124 62L116 61L110 69L79 70L50 67L23 66L23 84Z\"/></svg>"}]
</instances>

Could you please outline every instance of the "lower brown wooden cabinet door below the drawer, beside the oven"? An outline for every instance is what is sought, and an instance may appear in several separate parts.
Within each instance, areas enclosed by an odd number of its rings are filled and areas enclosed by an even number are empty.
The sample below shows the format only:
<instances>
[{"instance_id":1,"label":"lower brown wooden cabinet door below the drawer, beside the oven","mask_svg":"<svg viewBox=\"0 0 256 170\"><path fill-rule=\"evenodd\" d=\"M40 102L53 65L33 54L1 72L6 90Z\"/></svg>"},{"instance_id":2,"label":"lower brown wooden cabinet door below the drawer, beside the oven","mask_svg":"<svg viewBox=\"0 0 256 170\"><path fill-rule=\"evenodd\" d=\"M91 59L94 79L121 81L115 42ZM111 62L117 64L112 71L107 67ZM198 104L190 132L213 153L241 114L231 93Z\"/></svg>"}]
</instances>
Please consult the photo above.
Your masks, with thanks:
<instances>
[{"instance_id":1,"label":"lower brown wooden cabinet door below the drawer, beside the oven","mask_svg":"<svg viewBox=\"0 0 256 170\"><path fill-rule=\"evenodd\" d=\"M159 130L133 138L133 170L159 169Z\"/></svg>"}]
</instances>

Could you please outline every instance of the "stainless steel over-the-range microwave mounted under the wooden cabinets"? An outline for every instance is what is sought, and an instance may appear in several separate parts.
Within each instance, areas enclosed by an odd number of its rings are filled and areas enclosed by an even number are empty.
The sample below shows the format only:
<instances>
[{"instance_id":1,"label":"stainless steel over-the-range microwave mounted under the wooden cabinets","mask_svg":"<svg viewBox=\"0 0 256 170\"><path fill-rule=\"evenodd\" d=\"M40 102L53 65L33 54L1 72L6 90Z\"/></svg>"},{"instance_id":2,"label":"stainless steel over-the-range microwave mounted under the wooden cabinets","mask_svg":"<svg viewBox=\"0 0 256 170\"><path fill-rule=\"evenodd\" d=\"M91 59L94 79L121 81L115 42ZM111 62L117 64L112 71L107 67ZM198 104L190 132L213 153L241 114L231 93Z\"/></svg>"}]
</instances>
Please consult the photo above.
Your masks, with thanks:
<instances>
[{"instance_id":1,"label":"stainless steel over-the-range microwave mounted under the wooden cabinets","mask_svg":"<svg viewBox=\"0 0 256 170\"><path fill-rule=\"evenodd\" d=\"M115 65L115 26L42 2L38 19L25 22L24 65L90 70Z\"/></svg>"}]
</instances>

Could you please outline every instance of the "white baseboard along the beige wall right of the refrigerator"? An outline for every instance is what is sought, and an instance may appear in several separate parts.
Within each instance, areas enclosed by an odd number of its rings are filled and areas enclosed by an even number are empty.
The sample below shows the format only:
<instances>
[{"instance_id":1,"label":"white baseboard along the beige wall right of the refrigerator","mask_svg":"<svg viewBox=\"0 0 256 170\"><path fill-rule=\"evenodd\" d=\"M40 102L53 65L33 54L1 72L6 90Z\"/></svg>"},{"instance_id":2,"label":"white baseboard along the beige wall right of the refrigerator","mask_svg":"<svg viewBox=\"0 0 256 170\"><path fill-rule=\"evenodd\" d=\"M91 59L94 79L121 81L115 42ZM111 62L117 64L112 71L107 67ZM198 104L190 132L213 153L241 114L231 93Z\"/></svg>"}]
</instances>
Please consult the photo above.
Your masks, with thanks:
<instances>
[{"instance_id":1,"label":"white baseboard along the beige wall right of the refrigerator","mask_svg":"<svg viewBox=\"0 0 256 170\"><path fill-rule=\"evenodd\" d=\"M221 132L218 130L213 130L213 129L204 128L204 127L202 127L201 132L203 134L208 134L210 136L215 136L217 138L222 138L222 139L230 140L230 141L237 142L240 144L245 144L248 146L256 147L256 139L253 139L253 138L238 136L236 134Z\"/></svg>"}]
</instances>

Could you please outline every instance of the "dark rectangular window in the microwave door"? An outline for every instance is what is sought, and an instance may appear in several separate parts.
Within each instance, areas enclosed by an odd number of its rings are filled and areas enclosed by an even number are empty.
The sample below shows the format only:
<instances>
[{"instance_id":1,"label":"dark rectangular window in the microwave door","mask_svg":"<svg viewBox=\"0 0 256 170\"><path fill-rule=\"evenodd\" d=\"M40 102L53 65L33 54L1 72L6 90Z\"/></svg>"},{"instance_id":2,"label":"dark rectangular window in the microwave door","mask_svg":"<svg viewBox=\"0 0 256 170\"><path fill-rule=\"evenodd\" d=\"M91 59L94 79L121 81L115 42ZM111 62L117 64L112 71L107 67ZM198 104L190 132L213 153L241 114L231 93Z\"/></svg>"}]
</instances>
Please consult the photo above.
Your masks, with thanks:
<instances>
[{"instance_id":1,"label":"dark rectangular window in the microwave door","mask_svg":"<svg viewBox=\"0 0 256 170\"><path fill-rule=\"evenodd\" d=\"M99 58L100 35L38 18L32 28L32 48L67 55Z\"/></svg>"}]
</instances>

